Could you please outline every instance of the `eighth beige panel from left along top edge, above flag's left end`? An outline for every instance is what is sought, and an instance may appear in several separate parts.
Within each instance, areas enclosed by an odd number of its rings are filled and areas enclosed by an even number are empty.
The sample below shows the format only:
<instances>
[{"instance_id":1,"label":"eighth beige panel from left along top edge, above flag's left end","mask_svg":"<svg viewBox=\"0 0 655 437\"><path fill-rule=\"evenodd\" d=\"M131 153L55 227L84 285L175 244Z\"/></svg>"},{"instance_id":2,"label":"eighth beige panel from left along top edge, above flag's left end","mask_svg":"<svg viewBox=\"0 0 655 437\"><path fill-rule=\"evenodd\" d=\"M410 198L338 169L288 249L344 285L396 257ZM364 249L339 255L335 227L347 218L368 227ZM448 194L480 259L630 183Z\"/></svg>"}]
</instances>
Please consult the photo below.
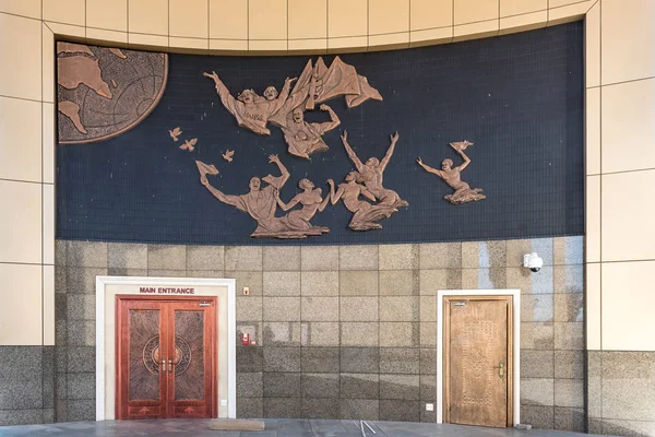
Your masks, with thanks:
<instances>
[{"instance_id":1,"label":"eighth beige panel from left along top edge, above flag's left end","mask_svg":"<svg viewBox=\"0 0 655 437\"><path fill-rule=\"evenodd\" d=\"M289 0L289 39L327 37L327 0Z\"/></svg>"}]
</instances>

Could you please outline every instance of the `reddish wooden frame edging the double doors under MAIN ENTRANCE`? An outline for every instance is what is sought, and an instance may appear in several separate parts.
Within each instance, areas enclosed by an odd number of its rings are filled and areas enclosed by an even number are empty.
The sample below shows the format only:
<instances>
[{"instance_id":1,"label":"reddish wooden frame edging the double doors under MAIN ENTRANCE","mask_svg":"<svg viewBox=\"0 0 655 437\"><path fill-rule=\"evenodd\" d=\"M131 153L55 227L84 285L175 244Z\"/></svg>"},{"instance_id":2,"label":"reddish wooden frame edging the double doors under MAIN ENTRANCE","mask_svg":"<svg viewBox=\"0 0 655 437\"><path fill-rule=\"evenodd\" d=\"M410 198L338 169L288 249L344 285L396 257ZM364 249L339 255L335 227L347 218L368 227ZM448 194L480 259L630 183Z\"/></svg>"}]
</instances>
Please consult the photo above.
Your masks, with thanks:
<instances>
[{"instance_id":1,"label":"reddish wooden frame edging the double doors under MAIN ENTRANCE","mask_svg":"<svg viewBox=\"0 0 655 437\"><path fill-rule=\"evenodd\" d=\"M213 310L212 312L214 312L212 316L212 323L213 323L213 329L212 329L212 343L211 343L211 349L210 349L210 356L211 356L211 364L210 364L210 368L211 368L211 381L212 381L212 386L210 388L210 393L211 395L209 397L209 403L210 403L210 409L211 409L211 417L217 417L218 416L218 373L216 371L217 369L217 364L218 364L218 350L217 350L217 345L218 345L218 335L217 335L217 326L216 326L216 320L217 320L217 315L216 309L218 308L218 297L217 296L170 296L170 295L165 295L165 296L148 296L148 295L134 295L134 294L117 294L115 296L115 300L116 300L116 316L115 316L115 323L116 323L116 329L115 329L115 334L116 334L116 394L115 394L115 399L116 399L116 411L115 411L115 417L118 420L124 420L124 417L120 417L121 416L121 409L122 409L122 402L126 401L122 399L122 393L121 393L121 387L120 383L122 381L122 374L124 371L127 371L127 369L122 368L121 366L121 355L119 353L119 351L122 350L122 344L123 344L123 339L122 339L122 329L129 329L128 327L123 327L122 324L122 314L119 311L120 308L120 304L123 302L156 302L156 303L174 303L174 302L196 302L196 303L201 303L201 302L211 302L213 304ZM170 392L170 389L167 388L167 391ZM207 392L207 388L205 387L205 395ZM172 417L169 417L172 418Z\"/></svg>"}]
</instances>

